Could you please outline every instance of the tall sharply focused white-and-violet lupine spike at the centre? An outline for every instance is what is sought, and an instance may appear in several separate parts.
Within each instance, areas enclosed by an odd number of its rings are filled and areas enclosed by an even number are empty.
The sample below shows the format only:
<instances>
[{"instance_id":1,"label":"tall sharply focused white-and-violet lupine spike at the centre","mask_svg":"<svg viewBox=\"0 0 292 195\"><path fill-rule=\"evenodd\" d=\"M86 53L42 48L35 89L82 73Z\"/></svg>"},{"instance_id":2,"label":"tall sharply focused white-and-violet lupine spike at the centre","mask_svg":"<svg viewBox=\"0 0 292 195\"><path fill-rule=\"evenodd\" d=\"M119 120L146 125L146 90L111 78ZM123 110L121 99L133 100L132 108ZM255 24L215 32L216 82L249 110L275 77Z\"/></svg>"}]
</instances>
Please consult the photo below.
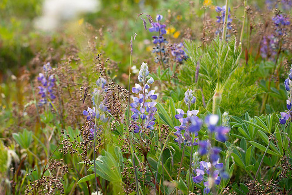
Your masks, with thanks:
<instances>
[{"instance_id":1,"label":"tall sharply focused white-and-violet lupine spike at the centre","mask_svg":"<svg viewBox=\"0 0 292 195\"><path fill-rule=\"evenodd\" d=\"M154 117L157 111L155 107L156 103L155 99L157 99L157 95L155 94L155 90L149 91L149 84L154 82L154 79L149 76L149 70L147 63L142 63L139 71L138 80L143 84L135 84L135 87L132 88L132 93L138 94L138 97L133 97L133 102L130 104L131 111L133 115L131 118L134 121L140 120L140 124L135 124L134 133L139 133L141 129L150 129L153 130L153 125L155 124L156 118Z\"/></svg>"}]
</instances>

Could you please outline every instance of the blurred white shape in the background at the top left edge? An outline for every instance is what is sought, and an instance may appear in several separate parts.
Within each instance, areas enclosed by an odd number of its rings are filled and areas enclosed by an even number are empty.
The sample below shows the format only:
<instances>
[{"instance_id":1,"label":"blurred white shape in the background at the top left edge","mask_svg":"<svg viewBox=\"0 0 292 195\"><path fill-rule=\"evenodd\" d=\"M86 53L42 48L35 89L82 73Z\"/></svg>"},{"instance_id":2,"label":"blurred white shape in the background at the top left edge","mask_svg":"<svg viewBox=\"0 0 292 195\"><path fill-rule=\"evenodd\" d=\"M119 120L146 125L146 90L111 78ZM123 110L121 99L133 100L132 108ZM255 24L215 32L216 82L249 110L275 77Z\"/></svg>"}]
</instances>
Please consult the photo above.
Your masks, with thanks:
<instances>
[{"instance_id":1,"label":"blurred white shape in the background at the top left edge","mask_svg":"<svg viewBox=\"0 0 292 195\"><path fill-rule=\"evenodd\" d=\"M62 22L72 20L82 13L96 12L99 8L99 0L44 0L43 15L35 20L35 27L54 31Z\"/></svg>"}]
</instances>

